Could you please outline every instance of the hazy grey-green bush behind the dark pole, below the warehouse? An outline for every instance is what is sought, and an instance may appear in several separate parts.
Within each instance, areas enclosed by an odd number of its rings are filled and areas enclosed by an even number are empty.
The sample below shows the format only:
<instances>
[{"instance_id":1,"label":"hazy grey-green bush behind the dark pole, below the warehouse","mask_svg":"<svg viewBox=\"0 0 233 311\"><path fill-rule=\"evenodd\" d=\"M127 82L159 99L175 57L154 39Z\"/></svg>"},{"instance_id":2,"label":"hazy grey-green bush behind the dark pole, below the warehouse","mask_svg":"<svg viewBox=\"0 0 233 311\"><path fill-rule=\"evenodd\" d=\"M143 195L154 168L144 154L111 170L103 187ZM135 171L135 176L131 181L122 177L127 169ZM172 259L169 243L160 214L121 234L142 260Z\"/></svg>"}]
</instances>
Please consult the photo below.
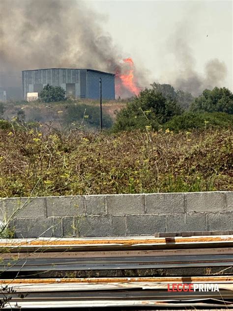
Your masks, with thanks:
<instances>
[{"instance_id":1,"label":"hazy grey-green bush behind the dark pole, below the warehouse","mask_svg":"<svg viewBox=\"0 0 233 311\"><path fill-rule=\"evenodd\" d=\"M87 104L69 104L66 113L63 116L65 124L78 123L87 127L99 127L100 109L98 106L90 106ZM111 117L102 112L103 127L109 128L113 121Z\"/></svg>"}]
</instances>

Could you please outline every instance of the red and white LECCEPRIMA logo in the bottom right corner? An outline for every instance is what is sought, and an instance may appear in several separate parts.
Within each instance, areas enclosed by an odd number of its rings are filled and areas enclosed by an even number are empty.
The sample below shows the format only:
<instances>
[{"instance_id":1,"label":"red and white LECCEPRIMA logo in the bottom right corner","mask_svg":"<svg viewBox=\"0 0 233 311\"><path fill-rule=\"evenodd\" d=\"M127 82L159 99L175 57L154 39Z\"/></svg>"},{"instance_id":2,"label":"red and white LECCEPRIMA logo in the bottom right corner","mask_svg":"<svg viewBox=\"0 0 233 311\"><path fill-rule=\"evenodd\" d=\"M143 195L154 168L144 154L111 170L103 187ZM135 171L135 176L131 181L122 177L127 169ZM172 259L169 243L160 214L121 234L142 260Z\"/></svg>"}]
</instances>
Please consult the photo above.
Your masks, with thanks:
<instances>
[{"instance_id":1,"label":"red and white LECCEPRIMA logo in the bottom right corner","mask_svg":"<svg viewBox=\"0 0 233 311\"><path fill-rule=\"evenodd\" d=\"M192 283L192 284L168 284L168 291L171 292L181 292L181 291L219 291L218 284L199 284L199 283Z\"/></svg>"}]
</instances>

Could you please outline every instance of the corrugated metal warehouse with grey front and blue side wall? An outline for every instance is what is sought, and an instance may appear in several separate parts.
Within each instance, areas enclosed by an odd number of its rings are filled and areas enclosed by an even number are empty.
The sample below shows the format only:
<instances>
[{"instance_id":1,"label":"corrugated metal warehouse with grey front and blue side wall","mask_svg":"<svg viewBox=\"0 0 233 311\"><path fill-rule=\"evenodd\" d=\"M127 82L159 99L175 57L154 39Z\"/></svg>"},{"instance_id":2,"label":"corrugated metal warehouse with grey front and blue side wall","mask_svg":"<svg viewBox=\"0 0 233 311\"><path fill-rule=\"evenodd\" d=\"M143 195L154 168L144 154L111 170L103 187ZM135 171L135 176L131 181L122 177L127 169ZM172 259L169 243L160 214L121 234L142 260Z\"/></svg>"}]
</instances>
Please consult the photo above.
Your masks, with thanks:
<instances>
[{"instance_id":1,"label":"corrugated metal warehouse with grey front and blue side wall","mask_svg":"<svg viewBox=\"0 0 233 311\"><path fill-rule=\"evenodd\" d=\"M102 80L102 98L115 99L115 75L92 69L37 69L22 71L23 97L40 92L47 84L61 86L66 96L99 98L99 78Z\"/></svg>"}]
</instances>

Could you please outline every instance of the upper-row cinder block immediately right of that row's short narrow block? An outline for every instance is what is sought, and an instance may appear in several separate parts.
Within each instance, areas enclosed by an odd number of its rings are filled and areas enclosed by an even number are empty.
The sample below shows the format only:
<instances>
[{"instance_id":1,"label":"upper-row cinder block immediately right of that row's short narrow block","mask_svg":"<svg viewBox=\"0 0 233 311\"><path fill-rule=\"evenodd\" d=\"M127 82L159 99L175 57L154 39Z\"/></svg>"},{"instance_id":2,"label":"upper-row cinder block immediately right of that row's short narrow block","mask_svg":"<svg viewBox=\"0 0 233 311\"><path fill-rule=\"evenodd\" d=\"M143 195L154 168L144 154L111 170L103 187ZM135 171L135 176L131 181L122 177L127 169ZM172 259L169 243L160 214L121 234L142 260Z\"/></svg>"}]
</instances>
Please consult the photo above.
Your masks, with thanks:
<instances>
[{"instance_id":1,"label":"upper-row cinder block immediately right of that row's short narrow block","mask_svg":"<svg viewBox=\"0 0 233 311\"><path fill-rule=\"evenodd\" d=\"M145 214L144 194L106 195L106 203L110 215Z\"/></svg>"}]
</instances>

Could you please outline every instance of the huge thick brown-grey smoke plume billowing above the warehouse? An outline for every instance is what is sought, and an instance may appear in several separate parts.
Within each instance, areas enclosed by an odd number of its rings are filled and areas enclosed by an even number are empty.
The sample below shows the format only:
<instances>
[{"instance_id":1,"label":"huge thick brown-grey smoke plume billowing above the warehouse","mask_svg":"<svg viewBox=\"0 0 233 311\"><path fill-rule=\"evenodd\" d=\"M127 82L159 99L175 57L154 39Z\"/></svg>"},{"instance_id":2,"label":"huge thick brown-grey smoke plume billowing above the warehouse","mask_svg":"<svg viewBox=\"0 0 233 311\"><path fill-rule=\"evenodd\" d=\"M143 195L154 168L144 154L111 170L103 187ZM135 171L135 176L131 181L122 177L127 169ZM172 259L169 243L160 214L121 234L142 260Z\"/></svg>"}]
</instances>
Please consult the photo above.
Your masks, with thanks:
<instances>
[{"instance_id":1,"label":"huge thick brown-grey smoke plume billowing above the warehouse","mask_svg":"<svg viewBox=\"0 0 233 311\"><path fill-rule=\"evenodd\" d=\"M20 84L15 76L21 70L90 68L117 72L118 95L132 95L119 79L127 55L103 30L102 19L76 0L0 0L0 86ZM143 79L137 68L134 75Z\"/></svg>"}]
</instances>

